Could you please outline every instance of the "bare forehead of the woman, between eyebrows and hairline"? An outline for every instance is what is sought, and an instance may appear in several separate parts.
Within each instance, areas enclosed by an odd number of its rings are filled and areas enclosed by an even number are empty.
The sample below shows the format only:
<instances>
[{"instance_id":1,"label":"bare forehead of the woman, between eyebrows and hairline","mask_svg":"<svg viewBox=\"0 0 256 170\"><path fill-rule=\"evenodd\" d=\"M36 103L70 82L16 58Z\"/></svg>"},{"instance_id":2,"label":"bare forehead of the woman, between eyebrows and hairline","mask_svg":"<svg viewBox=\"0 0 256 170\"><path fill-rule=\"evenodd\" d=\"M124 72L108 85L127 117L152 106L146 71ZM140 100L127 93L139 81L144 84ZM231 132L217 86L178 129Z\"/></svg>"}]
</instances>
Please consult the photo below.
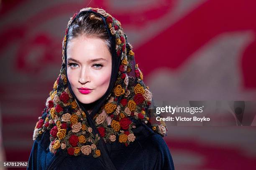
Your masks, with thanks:
<instances>
[{"instance_id":1,"label":"bare forehead of the woman, between eyebrows and hairline","mask_svg":"<svg viewBox=\"0 0 256 170\"><path fill-rule=\"evenodd\" d=\"M76 60L92 60L102 57L111 60L111 54L104 40L80 35L72 38L67 44L67 57Z\"/></svg>"}]
</instances>

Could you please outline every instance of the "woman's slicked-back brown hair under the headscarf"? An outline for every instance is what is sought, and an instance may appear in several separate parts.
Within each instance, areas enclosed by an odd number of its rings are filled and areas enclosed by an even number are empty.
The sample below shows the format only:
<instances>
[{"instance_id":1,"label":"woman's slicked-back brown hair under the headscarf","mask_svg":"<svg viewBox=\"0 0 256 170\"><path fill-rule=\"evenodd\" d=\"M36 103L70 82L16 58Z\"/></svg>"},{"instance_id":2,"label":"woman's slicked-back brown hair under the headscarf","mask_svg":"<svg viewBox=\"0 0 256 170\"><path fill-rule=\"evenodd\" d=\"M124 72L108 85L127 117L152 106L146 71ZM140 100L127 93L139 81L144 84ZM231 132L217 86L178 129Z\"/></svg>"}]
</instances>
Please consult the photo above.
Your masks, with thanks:
<instances>
[{"instance_id":1,"label":"woman's slicked-back brown hair under the headscarf","mask_svg":"<svg viewBox=\"0 0 256 170\"><path fill-rule=\"evenodd\" d=\"M68 41L79 35L100 38L105 41L111 53L111 42L108 32L104 27L102 18L98 14L89 13L77 18L72 25L70 25L68 35Z\"/></svg>"}]
</instances>

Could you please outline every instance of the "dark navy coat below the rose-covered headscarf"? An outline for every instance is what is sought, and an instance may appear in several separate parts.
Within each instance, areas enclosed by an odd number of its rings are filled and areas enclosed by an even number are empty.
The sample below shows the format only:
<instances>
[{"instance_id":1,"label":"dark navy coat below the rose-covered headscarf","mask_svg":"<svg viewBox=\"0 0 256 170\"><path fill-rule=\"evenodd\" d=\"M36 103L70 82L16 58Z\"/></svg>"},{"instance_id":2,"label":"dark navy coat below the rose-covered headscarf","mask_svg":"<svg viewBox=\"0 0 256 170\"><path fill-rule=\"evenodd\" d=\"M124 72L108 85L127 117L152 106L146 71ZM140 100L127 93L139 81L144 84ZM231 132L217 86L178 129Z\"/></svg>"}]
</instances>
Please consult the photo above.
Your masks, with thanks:
<instances>
[{"instance_id":1,"label":"dark navy coat below the rose-covered headscarf","mask_svg":"<svg viewBox=\"0 0 256 170\"><path fill-rule=\"evenodd\" d=\"M174 170L169 148L164 139L145 127L136 128L136 140L127 147L122 143L106 143L110 159L117 170ZM143 134L141 132L144 132ZM136 133L136 132L135 132ZM98 158L86 155L52 154L49 132L36 139L31 150L28 170L105 170Z\"/></svg>"}]
</instances>

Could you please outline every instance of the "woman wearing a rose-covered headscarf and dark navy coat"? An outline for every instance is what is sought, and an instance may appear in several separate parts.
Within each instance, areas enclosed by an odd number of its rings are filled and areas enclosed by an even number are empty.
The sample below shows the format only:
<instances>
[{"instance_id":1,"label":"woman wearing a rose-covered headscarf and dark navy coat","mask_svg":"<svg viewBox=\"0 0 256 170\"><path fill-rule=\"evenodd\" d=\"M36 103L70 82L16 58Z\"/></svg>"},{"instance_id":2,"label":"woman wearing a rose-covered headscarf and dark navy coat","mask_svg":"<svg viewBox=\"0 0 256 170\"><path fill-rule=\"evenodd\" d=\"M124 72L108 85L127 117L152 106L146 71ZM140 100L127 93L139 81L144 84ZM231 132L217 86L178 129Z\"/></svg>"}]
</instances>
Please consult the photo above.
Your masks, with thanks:
<instances>
[{"instance_id":1,"label":"woman wearing a rose-covered headscarf and dark navy coat","mask_svg":"<svg viewBox=\"0 0 256 170\"><path fill-rule=\"evenodd\" d=\"M67 26L61 73L33 134L28 169L173 170L152 95L121 24L84 8Z\"/></svg>"}]
</instances>

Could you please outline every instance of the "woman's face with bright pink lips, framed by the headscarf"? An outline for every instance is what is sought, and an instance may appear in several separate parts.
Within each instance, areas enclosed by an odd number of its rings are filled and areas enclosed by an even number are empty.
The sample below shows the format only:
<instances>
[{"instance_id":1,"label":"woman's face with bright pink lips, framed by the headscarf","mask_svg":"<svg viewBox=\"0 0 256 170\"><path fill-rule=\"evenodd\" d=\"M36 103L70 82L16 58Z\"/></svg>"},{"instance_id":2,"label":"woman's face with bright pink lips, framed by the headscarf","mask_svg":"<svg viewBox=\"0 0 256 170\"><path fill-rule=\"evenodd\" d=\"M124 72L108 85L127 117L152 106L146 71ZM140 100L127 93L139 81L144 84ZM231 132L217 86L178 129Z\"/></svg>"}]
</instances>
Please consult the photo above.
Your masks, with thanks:
<instances>
[{"instance_id":1,"label":"woman's face with bright pink lips, framed by the headscarf","mask_svg":"<svg viewBox=\"0 0 256 170\"><path fill-rule=\"evenodd\" d=\"M80 35L67 45L67 76L77 99L89 104L108 90L112 57L104 40Z\"/></svg>"}]
</instances>

